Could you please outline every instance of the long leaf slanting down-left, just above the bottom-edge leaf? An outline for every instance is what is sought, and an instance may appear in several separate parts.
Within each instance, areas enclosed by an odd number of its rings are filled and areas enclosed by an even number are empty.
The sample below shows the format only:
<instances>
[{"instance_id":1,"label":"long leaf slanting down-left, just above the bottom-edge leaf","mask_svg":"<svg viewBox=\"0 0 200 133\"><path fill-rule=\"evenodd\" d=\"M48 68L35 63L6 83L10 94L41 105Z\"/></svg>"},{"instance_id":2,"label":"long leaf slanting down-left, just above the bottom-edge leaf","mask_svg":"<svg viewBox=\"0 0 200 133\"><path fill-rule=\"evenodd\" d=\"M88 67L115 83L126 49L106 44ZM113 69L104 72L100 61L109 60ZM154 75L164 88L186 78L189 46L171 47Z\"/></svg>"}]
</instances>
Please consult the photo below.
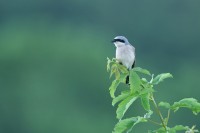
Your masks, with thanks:
<instances>
[{"instance_id":1,"label":"long leaf slanting down-left, just above the bottom-edge leaf","mask_svg":"<svg viewBox=\"0 0 200 133\"><path fill-rule=\"evenodd\" d=\"M117 108L117 119L122 119L128 108L131 106L131 104L137 99L138 97L136 95L130 95L127 98L125 98L123 101L121 101Z\"/></svg>"}]
</instances>

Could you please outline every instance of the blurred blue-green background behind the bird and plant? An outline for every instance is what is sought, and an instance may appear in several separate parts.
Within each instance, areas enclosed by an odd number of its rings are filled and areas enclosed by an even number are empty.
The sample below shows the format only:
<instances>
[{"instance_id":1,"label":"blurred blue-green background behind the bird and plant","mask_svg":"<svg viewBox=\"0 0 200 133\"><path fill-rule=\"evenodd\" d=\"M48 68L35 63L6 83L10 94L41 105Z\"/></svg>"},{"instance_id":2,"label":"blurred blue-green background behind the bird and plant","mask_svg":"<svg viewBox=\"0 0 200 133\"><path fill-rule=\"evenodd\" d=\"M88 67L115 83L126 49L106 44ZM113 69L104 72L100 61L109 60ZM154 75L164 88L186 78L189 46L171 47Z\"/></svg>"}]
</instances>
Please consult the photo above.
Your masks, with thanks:
<instances>
[{"instance_id":1,"label":"blurred blue-green background behind the bird and plant","mask_svg":"<svg viewBox=\"0 0 200 133\"><path fill-rule=\"evenodd\" d=\"M200 1L1 0L0 132L110 133L106 58L117 35L135 46L137 66L173 74L157 101L200 100ZM139 101L129 114L144 114ZM175 124L200 128L200 116L183 109Z\"/></svg>"}]
</instances>

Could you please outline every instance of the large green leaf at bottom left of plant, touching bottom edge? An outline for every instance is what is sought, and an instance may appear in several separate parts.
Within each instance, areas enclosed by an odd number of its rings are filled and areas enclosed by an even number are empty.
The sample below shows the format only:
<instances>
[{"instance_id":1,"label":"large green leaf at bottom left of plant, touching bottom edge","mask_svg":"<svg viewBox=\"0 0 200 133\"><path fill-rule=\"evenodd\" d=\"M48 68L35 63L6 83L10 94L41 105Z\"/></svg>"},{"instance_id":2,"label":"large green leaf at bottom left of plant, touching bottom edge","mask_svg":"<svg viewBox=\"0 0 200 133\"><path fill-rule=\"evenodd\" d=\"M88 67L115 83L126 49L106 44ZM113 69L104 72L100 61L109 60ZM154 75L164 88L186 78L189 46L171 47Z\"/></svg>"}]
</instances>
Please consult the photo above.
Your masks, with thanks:
<instances>
[{"instance_id":1,"label":"large green leaf at bottom left of plant, touching bottom edge","mask_svg":"<svg viewBox=\"0 0 200 133\"><path fill-rule=\"evenodd\" d=\"M147 122L147 120L140 116L120 120L115 125L114 131L112 133L123 133L123 132L128 133L132 130L132 128L136 124L141 123L141 122Z\"/></svg>"}]
</instances>

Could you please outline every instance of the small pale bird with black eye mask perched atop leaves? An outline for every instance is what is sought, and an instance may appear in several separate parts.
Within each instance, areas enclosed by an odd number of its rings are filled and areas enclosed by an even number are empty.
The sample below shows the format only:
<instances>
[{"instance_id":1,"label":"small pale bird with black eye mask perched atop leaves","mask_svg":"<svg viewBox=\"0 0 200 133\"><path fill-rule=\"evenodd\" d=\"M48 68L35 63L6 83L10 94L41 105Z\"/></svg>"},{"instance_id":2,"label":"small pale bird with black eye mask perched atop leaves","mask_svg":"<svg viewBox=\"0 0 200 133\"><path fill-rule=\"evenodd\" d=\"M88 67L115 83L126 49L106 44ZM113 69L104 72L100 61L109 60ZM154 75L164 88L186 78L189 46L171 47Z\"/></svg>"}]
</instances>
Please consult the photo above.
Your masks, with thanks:
<instances>
[{"instance_id":1,"label":"small pale bird with black eye mask perched atop leaves","mask_svg":"<svg viewBox=\"0 0 200 133\"><path fill-rule=\"evenodd\" d=\"M116 47L116 59L129 71L135 66L135 47L124 36L116 36L112 43ZM129 76L126 77L126 84L129 84Z\"/></svg>"}]
</instances>

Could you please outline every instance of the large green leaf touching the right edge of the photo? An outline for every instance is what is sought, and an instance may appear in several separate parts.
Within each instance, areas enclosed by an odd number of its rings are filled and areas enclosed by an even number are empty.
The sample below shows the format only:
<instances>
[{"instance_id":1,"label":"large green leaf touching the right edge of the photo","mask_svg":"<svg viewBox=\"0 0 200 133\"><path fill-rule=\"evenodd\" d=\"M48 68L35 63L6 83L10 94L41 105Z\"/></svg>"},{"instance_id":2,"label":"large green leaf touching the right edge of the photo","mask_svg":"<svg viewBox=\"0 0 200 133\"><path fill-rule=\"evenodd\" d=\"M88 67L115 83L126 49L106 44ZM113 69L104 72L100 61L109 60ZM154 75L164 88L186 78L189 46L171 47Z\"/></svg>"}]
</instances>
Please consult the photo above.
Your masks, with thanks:
<instances>
[{"instance_id":1,"label":"large green leaf touching the right edge of the photo","mask_svg":"<svg viewBox=\"0 0 200 133\"><path fill-rule=\"evenodd\" d=\"M200 112L200 103L194 98L184 98L171 106L171 109L174 111L177 111L179 108L188 108L197 115Z\"/></svg>"}]
</instances>

